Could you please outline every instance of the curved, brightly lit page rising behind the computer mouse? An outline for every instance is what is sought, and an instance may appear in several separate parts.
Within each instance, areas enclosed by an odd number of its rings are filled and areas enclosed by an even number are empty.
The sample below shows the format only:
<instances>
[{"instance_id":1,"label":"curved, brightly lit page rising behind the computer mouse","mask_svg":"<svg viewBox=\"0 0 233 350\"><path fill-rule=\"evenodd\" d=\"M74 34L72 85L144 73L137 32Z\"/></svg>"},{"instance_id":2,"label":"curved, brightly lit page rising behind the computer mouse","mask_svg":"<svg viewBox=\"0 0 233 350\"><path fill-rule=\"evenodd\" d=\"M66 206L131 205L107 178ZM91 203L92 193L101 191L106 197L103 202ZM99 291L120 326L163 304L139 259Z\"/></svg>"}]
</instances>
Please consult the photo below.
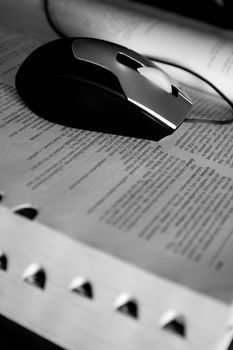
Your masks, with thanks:
<instances>
[{"instance_id":1,"label":"curved, brightly lit page rising behind the computer mouse","mask_svg":"<svg viewBox=\"0 0 233 350\"><path fill-rule=\"evenodd\" d=\"M131 1L51 0L50 11L57 28L68 36L102 38L179 63L233 99L232 33ZM192 75L177 69L172 73L189 85L211 91Z\"/></svg>"}]
</instances>

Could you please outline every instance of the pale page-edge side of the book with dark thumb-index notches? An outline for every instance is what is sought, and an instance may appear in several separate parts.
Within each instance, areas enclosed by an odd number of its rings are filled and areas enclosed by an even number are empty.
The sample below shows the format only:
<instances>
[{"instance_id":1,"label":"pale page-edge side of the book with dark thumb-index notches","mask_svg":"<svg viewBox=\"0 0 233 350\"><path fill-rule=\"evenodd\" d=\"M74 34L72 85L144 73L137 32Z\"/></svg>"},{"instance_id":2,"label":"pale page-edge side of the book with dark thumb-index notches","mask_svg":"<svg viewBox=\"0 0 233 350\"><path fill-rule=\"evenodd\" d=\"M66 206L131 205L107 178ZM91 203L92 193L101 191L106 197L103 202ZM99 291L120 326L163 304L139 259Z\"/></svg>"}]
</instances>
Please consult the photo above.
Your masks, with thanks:
<instances>
[{"instance_id":1,"label":"pale page-edge side of the book with dark thumb-index notches","mask_svg":"<svg viewBox=\"0 0 233 350\"><path fill-rule=\"evenodd\" d=\"M72 350L212 350L229 305L0 209L0 313ZM5 263L4 263L5 261Z\"/></svg>"}]
</instances>

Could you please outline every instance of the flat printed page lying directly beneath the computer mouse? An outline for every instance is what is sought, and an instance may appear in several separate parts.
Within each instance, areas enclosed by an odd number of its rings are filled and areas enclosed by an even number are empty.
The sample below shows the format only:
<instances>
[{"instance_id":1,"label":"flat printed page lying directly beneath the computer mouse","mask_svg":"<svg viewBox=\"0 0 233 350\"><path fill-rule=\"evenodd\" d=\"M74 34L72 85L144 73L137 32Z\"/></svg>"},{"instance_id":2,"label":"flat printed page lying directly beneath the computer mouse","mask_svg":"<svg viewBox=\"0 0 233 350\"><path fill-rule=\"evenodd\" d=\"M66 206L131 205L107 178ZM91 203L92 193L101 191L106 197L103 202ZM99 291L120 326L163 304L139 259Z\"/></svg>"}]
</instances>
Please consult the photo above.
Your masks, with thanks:
<instances>
[{"instance_id":1,"label":"flat printed page lying directly beneath the computer mouse","mask_svg":"<svg viewBox=\"0 0 233 350\"><path fill-rule=\"evenodd\" d=\"M2 205L36 208L46 226L230 302L232 126L183 123L153 142L47 122L14 86L19 65L42 41L0 33ZM219 99L190 92L191 117L228 115Z\"/></svg>"}]
</instances>

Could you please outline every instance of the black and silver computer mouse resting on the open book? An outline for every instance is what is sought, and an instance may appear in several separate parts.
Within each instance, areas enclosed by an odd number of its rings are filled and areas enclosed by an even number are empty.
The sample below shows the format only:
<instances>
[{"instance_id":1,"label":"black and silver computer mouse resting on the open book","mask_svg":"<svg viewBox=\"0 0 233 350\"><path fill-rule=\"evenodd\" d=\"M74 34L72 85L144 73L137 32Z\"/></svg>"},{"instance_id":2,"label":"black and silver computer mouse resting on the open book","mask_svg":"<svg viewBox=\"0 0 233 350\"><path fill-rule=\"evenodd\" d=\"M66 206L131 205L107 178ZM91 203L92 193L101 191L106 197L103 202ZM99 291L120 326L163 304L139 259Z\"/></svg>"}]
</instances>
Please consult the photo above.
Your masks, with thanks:
<instances>
[{"instance_id":1,"label":"black and silver computer mouse resting on the open book","mask_svg":"<svg viewBox=\"0 0 233 350\"><path fill-rule=\"evenodd\" d=\"M15 85L26 105L50 122L156 141L173 133L192 105L152 61L92 38L38 47L19 67Z\"/></svg>"}]
</instances>

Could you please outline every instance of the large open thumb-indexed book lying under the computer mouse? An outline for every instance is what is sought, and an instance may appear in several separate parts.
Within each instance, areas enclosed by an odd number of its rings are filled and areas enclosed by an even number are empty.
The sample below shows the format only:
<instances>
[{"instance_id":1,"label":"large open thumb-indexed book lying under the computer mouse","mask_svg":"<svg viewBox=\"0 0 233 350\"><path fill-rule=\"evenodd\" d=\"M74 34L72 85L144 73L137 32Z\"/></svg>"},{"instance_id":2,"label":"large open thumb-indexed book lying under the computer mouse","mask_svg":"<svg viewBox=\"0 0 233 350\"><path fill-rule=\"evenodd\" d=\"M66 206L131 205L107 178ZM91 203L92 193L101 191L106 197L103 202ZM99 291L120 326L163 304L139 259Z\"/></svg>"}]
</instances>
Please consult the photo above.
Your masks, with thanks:
<instances>
[{"instance_id":1,"label":"large open thumb-indexed book lying under the computer mouse","mask_svg":"<svg viewBox=\"0 0 233 350\"><path fill-rule=\"evenodd\" d=\"M50 11L67 35L180 61L233 99L229 32L130 1L52 0ZM42 120L14 77L57 36L39 0L2 1L0 14L0 313L66 349L226 349L233 125L183 123L152 142ZM189 117L232 117L202 82L177 77Z\"/></svg>"}]
</instances>

